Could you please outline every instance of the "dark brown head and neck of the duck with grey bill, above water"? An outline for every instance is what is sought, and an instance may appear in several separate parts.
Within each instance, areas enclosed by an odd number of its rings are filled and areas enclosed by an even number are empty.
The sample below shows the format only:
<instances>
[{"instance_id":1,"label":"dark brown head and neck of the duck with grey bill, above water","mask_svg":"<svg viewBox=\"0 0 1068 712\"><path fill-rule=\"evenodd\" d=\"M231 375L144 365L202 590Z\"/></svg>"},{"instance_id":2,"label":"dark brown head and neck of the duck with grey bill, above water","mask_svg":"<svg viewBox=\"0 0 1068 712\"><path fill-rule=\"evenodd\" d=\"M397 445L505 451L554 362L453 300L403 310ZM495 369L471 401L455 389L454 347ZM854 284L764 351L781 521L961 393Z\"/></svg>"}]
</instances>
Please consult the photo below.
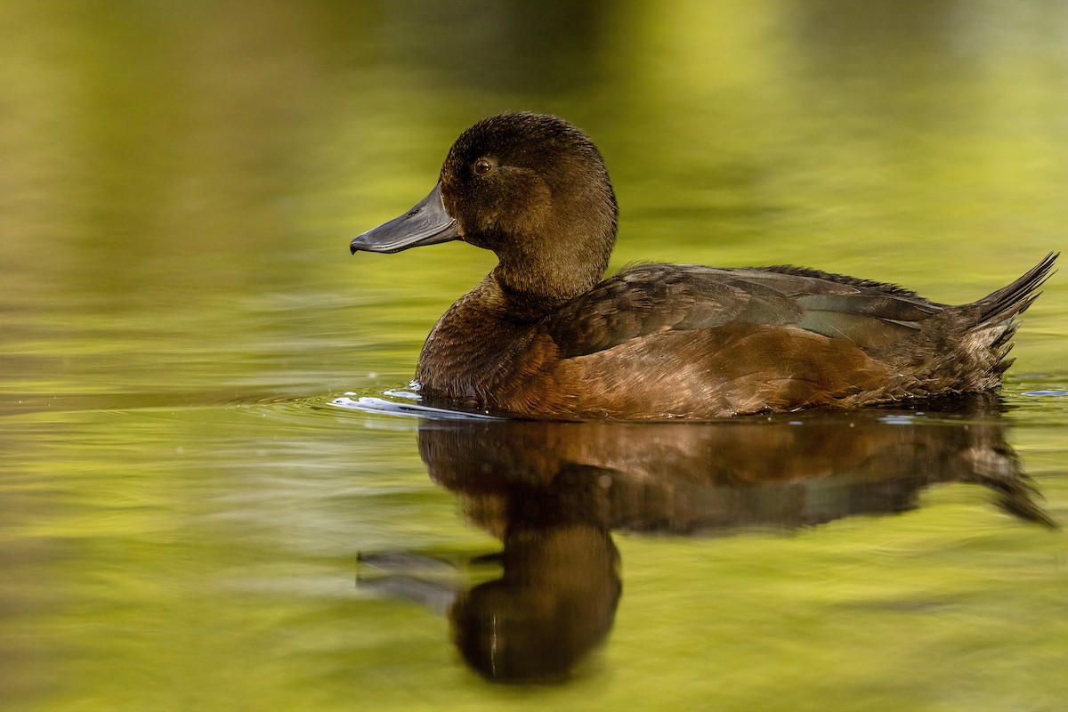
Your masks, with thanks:
<instances>
[{"instance_id":1,"label":"dark brown head and neck of the duck with grey bill, above water","mask_svg":"<svg viewBox=\"0 0 1068 712\"><path fill-rule=\"evenodd\" d=\"M608 267L616 204L604 161L556 116L506 113L464 131L430 194L352 240L352 252L399 252L464 240L492 250L511 298L555 306Z\"/></svg>"}]
</instances>

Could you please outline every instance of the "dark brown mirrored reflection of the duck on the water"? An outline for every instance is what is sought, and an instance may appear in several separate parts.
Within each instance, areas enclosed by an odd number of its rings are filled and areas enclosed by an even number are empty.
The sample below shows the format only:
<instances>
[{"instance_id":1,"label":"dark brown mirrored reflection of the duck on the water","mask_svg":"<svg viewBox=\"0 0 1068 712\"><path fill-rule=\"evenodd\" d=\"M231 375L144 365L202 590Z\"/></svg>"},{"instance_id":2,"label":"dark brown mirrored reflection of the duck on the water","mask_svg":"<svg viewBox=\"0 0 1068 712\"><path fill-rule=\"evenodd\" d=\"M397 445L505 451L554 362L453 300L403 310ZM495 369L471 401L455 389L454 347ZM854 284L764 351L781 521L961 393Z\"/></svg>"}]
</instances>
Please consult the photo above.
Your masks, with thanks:
<instances>
[{"instance_id":1,"label":"dark brown mirrored reflection of the duck on the water","mask_svg":"<svg viewBox=\"0 0 1068 712\"><path fill-rule=\"evenodd\" d=\"M989 488L1050 524L996 408L711 424L425 421L431 478L499 537L503 575L452 602L465 660L501 682L566 679L621 594L612 529L723 535L900 512L938 482Z\"/></svg>"}]
</instances>

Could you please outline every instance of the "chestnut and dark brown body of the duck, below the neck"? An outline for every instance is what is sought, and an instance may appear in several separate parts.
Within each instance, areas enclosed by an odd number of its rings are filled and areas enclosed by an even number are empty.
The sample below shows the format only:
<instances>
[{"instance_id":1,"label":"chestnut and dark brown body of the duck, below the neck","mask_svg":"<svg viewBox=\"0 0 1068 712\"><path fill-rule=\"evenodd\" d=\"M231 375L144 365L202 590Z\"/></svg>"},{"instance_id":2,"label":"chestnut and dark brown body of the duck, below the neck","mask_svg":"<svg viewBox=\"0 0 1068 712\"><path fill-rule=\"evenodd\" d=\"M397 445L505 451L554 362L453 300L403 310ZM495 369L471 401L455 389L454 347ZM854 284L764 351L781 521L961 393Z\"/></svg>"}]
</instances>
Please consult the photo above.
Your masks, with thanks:
<instances>
[{"instance_id":1,"label":"chestnut and dark brown body of the duck, below the neck","mask_svg":"<svg viewBox=\"0 0 1068 712\"><path fill-rule=\"evenodd\" d=\"M988 391L1053 259L962 305L795 267L639 265L530 323L454 307L435 333L468 333L476 317L486 332L466 339L471 358L451 344L444 374L431 334L420 380L431 399L548 417L710 418Z\"/></svg>"}]
</instances>

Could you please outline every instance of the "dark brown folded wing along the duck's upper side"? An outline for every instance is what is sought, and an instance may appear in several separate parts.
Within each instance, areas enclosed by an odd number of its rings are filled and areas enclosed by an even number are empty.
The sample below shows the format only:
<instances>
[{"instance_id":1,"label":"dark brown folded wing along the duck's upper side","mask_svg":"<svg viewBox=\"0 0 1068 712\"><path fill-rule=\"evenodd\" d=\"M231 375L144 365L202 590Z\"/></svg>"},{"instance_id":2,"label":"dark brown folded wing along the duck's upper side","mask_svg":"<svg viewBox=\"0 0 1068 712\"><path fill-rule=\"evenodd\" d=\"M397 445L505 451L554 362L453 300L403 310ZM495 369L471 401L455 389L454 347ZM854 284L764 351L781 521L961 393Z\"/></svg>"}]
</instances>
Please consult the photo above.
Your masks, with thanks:
<instances>
[{"instance_id":1,"label":"dark brown folded wing along the duck's upper side","mask_svg":"<svg viewBox=\"0 0 1068 712\"><path fill-rule=\"evenodd\" d=\"M545 321L562 358L656 331L728 323L795 326L861 348L914 334L944 311L893 285L795 267L640 265L601 282Z\"/></svg>"}]
</instances>

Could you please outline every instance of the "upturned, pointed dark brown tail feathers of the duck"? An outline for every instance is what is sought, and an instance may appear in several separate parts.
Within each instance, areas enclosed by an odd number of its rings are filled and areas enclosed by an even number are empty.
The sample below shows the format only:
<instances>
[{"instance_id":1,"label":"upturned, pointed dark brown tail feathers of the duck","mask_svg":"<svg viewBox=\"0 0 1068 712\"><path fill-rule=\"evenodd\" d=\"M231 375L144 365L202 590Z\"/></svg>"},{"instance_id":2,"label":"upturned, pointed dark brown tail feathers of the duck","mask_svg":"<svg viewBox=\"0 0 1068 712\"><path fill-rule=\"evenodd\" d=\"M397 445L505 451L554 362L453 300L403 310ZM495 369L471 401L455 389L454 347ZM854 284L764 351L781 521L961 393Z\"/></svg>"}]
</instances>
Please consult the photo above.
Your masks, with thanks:
<instances>
[{"instance_id":1,"label":"upturned, pointed dark brown tail feathers of the duck","mask_svg":"<svg viewBox=\"0 0 1068 712\"><path fill-rule=\"evenodd\" d=\"M969 304L974 316L965 338L992 357L989 373L995 378L1000 379L1012 364L1012 359L1006 357L1019 328L1016 317L1038 299L1037 290L1053 273L1053 265L1059 256L1059 252L1051 252L1011 284Z\"/></svg>"}]
</instances>

